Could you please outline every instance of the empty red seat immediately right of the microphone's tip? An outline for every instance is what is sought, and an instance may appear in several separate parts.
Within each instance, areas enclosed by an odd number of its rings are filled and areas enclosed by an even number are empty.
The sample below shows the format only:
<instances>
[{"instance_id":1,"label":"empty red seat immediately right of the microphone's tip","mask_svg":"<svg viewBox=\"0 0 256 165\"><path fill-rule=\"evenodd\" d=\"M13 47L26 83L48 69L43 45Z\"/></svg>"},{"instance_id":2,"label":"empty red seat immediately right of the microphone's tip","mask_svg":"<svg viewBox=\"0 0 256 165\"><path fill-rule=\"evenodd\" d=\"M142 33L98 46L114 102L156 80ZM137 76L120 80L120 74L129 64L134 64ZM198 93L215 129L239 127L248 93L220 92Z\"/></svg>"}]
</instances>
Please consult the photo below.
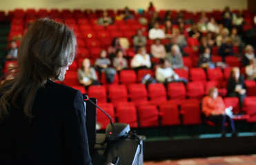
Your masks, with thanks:
<instances>
[{"instance_id":1,"label":"empty red seat immediately right of the microphone's tip","mask_svg":"<svg viewBox=\"0 0 256 165\"><path fill-rule=\"evenodd\" d=\"M88 96L96 98L98 102L107 102L107 91L104 85L91 85L88 88Z\"/></svg>"}]
</instances>

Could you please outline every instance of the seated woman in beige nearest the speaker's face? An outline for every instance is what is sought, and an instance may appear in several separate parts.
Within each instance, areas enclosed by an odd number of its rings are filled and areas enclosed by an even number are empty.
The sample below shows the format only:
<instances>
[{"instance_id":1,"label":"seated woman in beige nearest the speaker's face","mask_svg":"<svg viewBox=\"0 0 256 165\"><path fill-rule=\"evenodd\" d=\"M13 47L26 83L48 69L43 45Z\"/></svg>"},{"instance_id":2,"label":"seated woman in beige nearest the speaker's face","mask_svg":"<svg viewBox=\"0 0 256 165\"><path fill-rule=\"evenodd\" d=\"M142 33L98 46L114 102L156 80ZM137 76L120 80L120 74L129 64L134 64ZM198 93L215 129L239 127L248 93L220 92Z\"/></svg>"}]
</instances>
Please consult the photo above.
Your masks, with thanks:
<instances>
[{"instance_id":1,"label":"seated woman in beige nearest the speaker's face","mask_svg":"<svg viewBox=\"0 0 256 165\"><path fill-rule=\"evenodd\" d=\"M86 89L90 85L99 85L95 69L93 67L90 67L90 60L88 58L83 59L81 63L81 68L77 70L77 77L79 83L86 87Z\"/></svg>"}]
</instances>

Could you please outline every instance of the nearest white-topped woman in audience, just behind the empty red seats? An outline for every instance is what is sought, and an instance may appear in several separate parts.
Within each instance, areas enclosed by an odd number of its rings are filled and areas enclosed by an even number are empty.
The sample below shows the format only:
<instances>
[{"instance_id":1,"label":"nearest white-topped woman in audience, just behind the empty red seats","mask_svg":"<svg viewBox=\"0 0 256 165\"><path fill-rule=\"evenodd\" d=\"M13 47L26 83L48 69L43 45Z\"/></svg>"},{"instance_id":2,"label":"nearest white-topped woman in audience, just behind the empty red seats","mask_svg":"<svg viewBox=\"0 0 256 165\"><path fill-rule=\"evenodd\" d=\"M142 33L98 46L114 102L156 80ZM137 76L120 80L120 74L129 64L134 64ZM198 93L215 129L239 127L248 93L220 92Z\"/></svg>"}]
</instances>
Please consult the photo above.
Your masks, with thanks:
<instances>
[{"instance_id":1,"label":"nearest white-topped woman in audience, just behind the empty red seats","mask_svg":"<svg viewBox=\"0 0 256 165\"><path fill-rule=\"evenodd\" d=\"M165 84L178 81L188 83L186 78L179 78L179 75L174 72L168 60L164 60L164 62L157 67L155 77L157 78L158 82Z\"/></svg>"}]
</instances>

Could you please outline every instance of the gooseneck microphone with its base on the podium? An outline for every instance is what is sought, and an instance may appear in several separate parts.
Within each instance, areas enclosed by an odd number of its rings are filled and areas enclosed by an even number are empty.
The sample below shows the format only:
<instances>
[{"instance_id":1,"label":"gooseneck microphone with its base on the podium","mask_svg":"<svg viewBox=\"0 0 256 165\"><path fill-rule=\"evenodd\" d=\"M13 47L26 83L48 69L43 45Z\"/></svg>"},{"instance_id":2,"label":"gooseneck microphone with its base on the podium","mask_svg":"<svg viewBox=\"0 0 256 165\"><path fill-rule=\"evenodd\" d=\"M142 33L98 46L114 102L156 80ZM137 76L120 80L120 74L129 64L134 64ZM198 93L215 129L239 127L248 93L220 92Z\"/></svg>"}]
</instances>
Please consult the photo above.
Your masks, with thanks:
<instances>
[{"instance_id":1,"label":"gooseneck microphone with its base on the podium","mask_svg":"<svg viewBox=\"0 0 256 165\"><path fill-rule=\"evenodd\" d=\"M108 124L108 126L106 127L106 140L115 141L115 140L118 140L120 137L128 136L128 133L130 132L130 125L129 124L119 123L119 122L113 123L112 118L110 117L110 115L108 115L108 113L106 113L106 111L104 111L103 109L98 107L97 104L92 102L92 100L90 100L90 98L87 94L83 94L83 100L84 101L86 101L86 100L90 101L92 104L95 105L95 107L97 107L105 115L107 115L108 118L110 118L110 124Z\"/></svg>"}]
</instances>

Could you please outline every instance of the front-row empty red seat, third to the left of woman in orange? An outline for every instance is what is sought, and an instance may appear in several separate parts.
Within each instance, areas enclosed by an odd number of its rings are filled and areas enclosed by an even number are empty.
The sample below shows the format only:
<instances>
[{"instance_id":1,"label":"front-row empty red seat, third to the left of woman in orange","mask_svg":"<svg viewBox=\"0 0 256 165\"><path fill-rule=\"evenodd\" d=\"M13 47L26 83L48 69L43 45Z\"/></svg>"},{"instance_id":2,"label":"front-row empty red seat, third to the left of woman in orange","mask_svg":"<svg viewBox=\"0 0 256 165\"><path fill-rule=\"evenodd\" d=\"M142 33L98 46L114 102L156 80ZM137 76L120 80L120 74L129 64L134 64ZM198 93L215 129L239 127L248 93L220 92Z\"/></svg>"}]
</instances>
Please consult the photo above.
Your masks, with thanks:
<instances>
[{"instance_id":1,"label":"front-row empty red seat, third to the left of woman in orange","mask_svg":"<svg viewBox=\"0 0 256 165\"><path fill-rule=\"evenodd\" d=\"M159 126L157 106L145 104L138 107L138 119L140 127Z\"/></svg>"}]
</instances>

